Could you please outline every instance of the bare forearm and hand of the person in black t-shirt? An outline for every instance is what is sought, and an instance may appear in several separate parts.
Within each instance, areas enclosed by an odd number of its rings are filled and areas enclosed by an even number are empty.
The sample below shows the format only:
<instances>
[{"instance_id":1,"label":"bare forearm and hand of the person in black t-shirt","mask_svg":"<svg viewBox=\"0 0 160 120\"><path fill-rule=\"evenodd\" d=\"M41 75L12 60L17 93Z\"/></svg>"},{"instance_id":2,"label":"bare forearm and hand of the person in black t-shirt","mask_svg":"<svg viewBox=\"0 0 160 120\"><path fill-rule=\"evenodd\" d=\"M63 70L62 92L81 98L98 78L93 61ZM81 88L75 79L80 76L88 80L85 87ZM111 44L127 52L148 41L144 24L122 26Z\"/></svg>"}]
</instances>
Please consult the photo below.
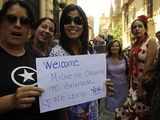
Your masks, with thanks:
<instances>
[{"instance_id":1,"label":"bare forearm and hand of the person in black t-shirt","mask_svg":"<svg viewBox=\"0 0 160 120\"><path fill-rule=\"evenodd\" d=\"M42 93L42 89L34 86L19 87L15 94L0 97L0 113L13 109L25 109L32 106L35 97Z\"/></svg>"}]
</instances>

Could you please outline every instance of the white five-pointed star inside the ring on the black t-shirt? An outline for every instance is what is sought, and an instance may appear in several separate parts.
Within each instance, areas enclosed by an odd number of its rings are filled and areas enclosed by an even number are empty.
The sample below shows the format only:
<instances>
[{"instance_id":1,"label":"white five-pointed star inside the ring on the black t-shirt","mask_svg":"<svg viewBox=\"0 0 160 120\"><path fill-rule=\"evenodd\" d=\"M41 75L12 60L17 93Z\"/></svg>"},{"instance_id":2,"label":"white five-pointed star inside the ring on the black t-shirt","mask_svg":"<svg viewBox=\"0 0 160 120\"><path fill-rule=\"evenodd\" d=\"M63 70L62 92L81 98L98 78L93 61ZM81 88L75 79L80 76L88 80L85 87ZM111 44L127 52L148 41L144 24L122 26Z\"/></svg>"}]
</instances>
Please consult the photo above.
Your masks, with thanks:
<instances>
[{"instance_id":1,"label":"white five-pointed star inside the ring on the black t-shirt","mask_svg":"<svg viewBox=\"0 0 160 120\"><path fill-rule=\"evenodd\" d=\"M26 69L24 69L24 73L19 74L19 76L24 77L23 83L25 83L27 80L35 81L35 79L32 77L33 74L33 72L29 73Z\"/></svg>"}]
</instances>

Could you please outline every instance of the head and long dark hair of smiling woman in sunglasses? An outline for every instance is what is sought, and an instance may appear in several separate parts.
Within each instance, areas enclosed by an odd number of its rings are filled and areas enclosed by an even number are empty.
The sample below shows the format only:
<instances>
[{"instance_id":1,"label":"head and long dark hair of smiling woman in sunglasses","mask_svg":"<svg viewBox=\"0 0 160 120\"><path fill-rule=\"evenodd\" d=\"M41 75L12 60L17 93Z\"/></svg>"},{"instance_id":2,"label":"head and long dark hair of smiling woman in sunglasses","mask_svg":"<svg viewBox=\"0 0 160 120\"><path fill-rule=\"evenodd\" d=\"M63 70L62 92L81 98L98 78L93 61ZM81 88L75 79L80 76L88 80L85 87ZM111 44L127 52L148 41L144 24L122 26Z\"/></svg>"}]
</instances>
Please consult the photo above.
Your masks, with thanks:
<instances>
[{"instance_id":1,"label":"head and long dark hair of smiling woman in sunglasses","mask_svg":"<svg viewBox=\"0 0 160 120\"><path fill-rule=\"evenodd\" d=\"M70 17L68 13L74 10L78 12L76 12L78 15ZM75 23L75 25L72 25L72 23ZM60 33L59 42L66 52L71 55L76 54L75 52L80 52L79 54L88 53L88 22L85 13L79 6L70 5L63 10L60 20ZM77 38L78 40L70 40Z\"/></svg>"}]
</instances>

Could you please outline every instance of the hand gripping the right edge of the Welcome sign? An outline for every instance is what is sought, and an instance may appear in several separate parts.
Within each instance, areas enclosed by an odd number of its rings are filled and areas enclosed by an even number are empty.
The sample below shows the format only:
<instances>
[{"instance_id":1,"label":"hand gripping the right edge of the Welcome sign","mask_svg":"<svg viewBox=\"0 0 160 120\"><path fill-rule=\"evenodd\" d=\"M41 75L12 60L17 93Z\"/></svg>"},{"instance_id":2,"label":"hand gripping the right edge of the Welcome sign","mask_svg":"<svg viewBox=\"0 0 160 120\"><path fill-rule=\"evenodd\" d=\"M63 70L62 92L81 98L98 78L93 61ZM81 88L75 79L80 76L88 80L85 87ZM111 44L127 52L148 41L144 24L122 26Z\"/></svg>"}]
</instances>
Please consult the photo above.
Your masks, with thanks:
<instances>
[{"instance_id":1,"label":"hand gripping the right edge of the Welcome sign","mask_svg":"<svg viewBox=\"0 0 160 120\"><path fill-rule=\"evenodd\" d=\"M114 95L113 81L111 79L106 80L107 96Z\"/></svg>"}]
</instances>

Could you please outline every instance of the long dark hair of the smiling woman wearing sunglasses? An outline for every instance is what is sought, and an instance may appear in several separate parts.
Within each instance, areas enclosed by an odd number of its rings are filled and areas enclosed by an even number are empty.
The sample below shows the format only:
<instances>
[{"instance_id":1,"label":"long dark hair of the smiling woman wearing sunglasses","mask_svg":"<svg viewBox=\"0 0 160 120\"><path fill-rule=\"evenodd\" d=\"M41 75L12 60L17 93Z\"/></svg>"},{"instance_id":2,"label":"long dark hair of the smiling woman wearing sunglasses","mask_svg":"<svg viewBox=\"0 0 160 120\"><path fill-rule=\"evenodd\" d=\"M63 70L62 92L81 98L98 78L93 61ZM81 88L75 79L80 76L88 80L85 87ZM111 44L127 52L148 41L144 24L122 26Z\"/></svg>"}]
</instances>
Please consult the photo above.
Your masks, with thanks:
<instances>
[{"instance_id":1,"label":"long dark hair of the smiling woman wearing sunglasses","mask_svg":"<svg viewBox=\"0 0 160 120\"><path fill-rule=\"evenodd\" d=\"M73 54L73 52L71 51L71 49L69 48L68 44L69 44L69 38L67 37L65 31L64 31L64 23L66 20L66 16L70 11L74 11L77 10L80 14L80 16L82 17L83 20L83 33L80 36L80 42L81 42L81 54L87 54L88 51L88 21L87 21L87 17L86 14L84 13L84 11L82 10L81 7L74 5L74 4L70 4L68 6L66 6L62 12L61 15L61 19L60 19L60 45L70 54Z\"/></svg>"}]
</instances>

